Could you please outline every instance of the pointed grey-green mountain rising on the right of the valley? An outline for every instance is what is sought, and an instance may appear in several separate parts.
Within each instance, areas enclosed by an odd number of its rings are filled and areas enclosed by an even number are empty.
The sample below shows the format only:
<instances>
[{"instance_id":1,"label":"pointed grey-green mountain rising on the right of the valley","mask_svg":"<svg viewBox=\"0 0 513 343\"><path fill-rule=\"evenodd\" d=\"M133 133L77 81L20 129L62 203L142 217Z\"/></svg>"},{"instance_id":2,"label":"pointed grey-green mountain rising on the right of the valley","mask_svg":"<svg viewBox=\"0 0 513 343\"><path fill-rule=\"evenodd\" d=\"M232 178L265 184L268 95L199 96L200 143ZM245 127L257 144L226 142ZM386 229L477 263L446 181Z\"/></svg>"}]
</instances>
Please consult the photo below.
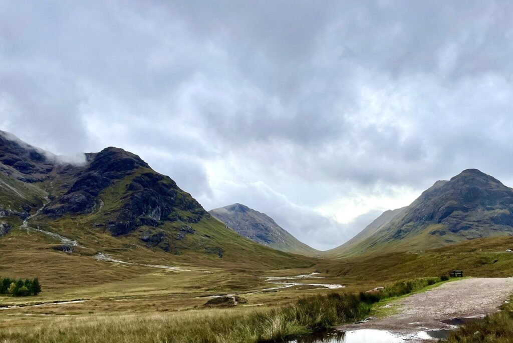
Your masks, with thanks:
<instances>
[{"instance_id":1,"label":"pointed grey-green mountain rising on the right of the valley","mask_svg":"<svg viewBox=\"0 0 513 343\"><path fill-rule=\"evenodd\" d=\"M437 181L409 206L387 211L330 256L415 251L513 235L513 189L477 169Z\"/></svg>"}]
</instances>

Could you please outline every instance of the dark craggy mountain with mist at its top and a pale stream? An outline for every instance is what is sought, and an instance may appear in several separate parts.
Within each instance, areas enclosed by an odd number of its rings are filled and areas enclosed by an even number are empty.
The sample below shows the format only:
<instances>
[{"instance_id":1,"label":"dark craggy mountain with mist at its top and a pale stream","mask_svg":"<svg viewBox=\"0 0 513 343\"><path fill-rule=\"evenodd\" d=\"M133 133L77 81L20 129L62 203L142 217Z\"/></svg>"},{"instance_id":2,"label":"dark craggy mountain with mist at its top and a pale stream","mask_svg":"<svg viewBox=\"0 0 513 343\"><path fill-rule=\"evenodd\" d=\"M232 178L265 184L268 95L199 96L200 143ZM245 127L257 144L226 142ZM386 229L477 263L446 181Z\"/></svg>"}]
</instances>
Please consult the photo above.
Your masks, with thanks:
<instances>
[{"instance_id":1,"label":"dark craggy mountain with mist at its top and a pale stream","mask_svg":"<svg viewBox=\"0 0 513 343\"><path fill-rule=\"evenodd\" d=\"M215 266L242 259L249 269L311 262L226 229L171 178L121 148L70 163L0 131L0 249L15 255L14 242L37 242L60 259L109 253Z\"/></svg>"}]
</instances>

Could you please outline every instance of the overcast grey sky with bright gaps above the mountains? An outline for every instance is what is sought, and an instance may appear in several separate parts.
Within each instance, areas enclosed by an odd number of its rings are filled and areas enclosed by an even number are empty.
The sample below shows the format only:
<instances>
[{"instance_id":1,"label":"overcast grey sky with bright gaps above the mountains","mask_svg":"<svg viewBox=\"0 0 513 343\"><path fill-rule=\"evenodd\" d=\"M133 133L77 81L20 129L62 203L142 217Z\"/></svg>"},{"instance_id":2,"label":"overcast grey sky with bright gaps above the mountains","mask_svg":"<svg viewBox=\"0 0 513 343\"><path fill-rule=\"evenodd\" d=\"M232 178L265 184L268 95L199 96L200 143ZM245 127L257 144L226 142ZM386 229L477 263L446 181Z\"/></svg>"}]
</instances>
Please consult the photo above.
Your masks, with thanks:
<instances>
[{"instance_id":1,"label":"overcast grey sky with bright gaps above the mountains","mask_svg":"<svg viewBox=\"0 0 513 343\"><path fill-rule=\"evenodd\" d=\"M0 129L117 146L336 247L437 180L513 186L508 1L0 0Z\"/></svg>"}]
</instances>

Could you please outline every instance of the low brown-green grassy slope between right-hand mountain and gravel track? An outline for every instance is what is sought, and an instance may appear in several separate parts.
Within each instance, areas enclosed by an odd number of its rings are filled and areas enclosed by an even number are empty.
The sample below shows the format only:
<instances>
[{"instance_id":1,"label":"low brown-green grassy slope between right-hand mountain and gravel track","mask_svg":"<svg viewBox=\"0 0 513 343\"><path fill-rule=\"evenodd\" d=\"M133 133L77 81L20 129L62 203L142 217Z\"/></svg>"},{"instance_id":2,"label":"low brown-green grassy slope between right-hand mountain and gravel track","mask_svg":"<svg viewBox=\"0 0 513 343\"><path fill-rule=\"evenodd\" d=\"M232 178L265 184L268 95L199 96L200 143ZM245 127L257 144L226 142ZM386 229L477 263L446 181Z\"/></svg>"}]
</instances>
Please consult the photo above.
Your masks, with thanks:
<instances>
[{"instance_id":1,"label":"low brown-green grassy slope between right-hand mountain and gravel track","mask_svg":"<svg viewBox=\"0 0 513 343\"><path fill-rule=\"evenodd\" d=\"M396 280L447 274L462 269L466 276L513 276L513 237L475 239L422 252L367 252L317 266L341 277L351 287L386 284Z\"/></svg>"}]
</instances>

